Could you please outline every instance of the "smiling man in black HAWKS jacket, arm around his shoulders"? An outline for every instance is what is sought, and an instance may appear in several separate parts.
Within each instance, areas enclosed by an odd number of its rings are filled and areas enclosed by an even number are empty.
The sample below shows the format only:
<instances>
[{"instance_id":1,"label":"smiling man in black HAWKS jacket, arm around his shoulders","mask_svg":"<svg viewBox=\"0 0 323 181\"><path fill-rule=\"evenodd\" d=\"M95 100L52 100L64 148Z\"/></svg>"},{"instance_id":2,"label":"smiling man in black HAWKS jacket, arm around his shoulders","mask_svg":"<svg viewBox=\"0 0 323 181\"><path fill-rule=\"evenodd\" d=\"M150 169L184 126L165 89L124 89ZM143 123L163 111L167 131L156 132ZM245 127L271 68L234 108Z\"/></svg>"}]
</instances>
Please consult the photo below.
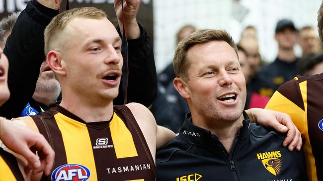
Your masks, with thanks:
<instances>
[{"instance_id":1,"label":"smiling man in black HAWKS jacket, arm around his shoulders","mask_svg":"<svg viewBox=\"0 0 323 181\"><path fill-rule=\"evenodd\" d=\"M223 30L200 30L174 56L174 87L191 113L157 153L158 181L304 181L302 152L250 124L237 47ZM251 113L252 114L252 113Z\"/></svg>"}]
</instances>

